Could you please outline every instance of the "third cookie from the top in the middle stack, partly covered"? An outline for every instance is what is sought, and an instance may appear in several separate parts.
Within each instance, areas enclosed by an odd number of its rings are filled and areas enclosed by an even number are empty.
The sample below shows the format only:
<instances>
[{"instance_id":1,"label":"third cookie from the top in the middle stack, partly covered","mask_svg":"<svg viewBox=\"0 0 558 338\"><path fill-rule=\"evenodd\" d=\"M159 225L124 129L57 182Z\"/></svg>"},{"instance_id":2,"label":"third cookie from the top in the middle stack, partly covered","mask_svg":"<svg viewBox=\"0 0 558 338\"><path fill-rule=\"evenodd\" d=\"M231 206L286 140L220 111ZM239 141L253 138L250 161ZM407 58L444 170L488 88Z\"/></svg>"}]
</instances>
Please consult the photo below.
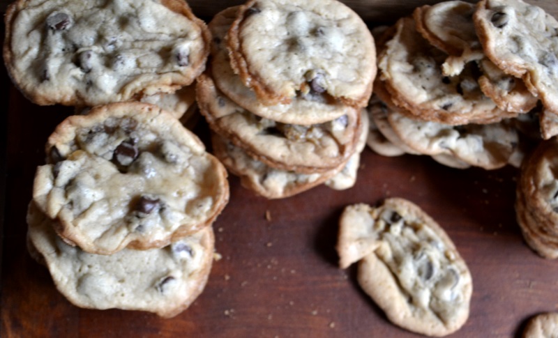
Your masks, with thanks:
<instances>
[{"instance_id":1,"label":"third cookie from the top in the middle stack, partly covered","mask_svg":"<svg viewBox=\"0 0 558 338\"><path fill-rule=\"evenodd\" d=\"M211 77L197 80L200 112L218 134L270 167L311 174L339 167L354 153L360 113L316 125L290 125L261 118L229 100Z\"/></svg>"}]
</instances>

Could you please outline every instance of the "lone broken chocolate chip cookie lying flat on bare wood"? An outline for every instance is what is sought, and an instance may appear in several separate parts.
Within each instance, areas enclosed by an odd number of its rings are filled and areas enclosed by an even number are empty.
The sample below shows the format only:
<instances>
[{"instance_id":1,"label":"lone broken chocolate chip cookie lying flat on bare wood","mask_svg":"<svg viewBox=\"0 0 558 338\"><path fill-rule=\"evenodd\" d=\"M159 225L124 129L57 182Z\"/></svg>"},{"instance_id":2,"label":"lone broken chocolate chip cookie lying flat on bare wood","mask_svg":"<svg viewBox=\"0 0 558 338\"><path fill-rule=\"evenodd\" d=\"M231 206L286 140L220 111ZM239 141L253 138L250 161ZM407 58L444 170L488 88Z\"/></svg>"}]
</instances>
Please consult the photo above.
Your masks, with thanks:
<instances>
[{"instance_id":1,"label":"lone broken chocolate chip cookie lying flat on bare wood","mask_svg":"<svg viewBox=\"0 0 558 338\"><path fill-rule=\"evenodd\" d=\"M445 231L405 199L347 206L340 217L341 268L359 262L363 290L390 321L423 335L444 336L469 316L472 279Z\"/></svg>"}]
</instances>

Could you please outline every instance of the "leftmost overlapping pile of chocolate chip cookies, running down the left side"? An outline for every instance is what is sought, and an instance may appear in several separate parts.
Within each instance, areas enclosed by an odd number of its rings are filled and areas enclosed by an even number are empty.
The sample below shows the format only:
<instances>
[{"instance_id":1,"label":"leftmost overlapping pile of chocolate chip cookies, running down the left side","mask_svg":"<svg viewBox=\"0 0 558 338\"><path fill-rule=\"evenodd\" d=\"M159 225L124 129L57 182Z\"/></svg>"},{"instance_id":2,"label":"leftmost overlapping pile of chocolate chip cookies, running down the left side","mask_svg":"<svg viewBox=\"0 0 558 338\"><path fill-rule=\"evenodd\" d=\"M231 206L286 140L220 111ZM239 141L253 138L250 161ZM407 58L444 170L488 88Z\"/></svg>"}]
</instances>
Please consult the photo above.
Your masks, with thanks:
<instances>
[{"instance_id":1,"label":"leftmost overlapping pile of chocolate chip cookies, running down the left side","mask_svg":"<svg viewBox=\"0 0 558 338\"><path fill-rule=\"evenodd\" d=\"M93 107L48 139L27 215L29 252L73 304L171 317L204 289L227 172L178 118L210 36L181 0L8 8L15 85L38 105Z\"/></svg>"}]
</instances>

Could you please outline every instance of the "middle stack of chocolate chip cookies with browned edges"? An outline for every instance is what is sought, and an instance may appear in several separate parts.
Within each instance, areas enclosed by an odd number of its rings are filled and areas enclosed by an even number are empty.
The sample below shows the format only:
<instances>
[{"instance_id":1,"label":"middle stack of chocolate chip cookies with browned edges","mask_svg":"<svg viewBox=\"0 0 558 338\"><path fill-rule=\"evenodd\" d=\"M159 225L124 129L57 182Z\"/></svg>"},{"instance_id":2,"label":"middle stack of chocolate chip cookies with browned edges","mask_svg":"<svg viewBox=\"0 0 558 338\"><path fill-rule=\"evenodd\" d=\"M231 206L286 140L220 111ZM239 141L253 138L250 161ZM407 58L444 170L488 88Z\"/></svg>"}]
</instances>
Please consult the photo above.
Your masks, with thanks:
<instances>
[{"instance_id":1,"label":"middle stack of chocolate chip cookies with browned edges","mask_svg":"<svg viewBox=\"0 0 558 338\"><path fill-rule=\"evenodd\" d=\"M335 0L248 1L209 29L197 102L225 166L269 199L352 186L376 72L361 18Z\"/></svg>"}]
</instances>

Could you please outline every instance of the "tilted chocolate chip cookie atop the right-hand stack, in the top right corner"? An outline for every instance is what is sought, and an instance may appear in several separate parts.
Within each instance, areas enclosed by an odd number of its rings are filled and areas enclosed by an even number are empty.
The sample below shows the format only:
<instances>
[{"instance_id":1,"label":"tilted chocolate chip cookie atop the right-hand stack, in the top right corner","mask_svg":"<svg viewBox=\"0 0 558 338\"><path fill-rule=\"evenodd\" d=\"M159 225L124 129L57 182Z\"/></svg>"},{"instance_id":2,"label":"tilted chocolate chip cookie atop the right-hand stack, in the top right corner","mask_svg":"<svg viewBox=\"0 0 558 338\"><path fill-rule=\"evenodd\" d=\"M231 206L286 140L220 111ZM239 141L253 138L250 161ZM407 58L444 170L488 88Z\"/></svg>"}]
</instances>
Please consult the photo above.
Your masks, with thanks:
<instances>
[{"instance_id":1,"label":"tilted chocolate chip cookie atop the right-hand stack, in the top right corner","mask_svg":"<svg viewBox=\"0 0 558 338\"><path fill-rule=\"evenodd\" d=\"M558 114L558 21L521 0L483 0L474 22L486 56Z\"/></svg>"}]
</instances>

